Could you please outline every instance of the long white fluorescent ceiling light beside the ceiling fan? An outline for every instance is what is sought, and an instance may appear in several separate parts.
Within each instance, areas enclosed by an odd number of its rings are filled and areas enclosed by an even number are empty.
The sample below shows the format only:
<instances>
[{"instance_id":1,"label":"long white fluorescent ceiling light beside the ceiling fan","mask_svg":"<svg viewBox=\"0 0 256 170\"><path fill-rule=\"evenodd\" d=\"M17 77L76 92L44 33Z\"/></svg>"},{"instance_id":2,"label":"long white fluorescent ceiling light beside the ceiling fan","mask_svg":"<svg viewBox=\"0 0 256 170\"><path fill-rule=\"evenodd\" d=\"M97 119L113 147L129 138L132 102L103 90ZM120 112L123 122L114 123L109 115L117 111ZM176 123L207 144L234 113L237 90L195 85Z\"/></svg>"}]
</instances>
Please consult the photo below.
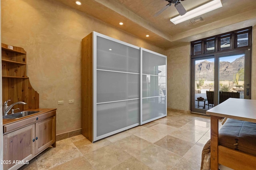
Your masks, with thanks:
<instances>
[{"instance_id":1,"label":"long white fluorescent ceiling light beside the ceiling fan","mask_svg":"<svg viewBox=\"0 0 256 170\"><path fill-rule=\"evenodd\" d=\"M170 21L172 21L174 24L181 23L183 21L190 20L192 18L195 18L197 16L200 16L212 10L216 10L217 8L220 8L220 7L222 7L221 1L213 0L211 2L208 2L207 4L198 6L197 8L194 8L193 10L188 11L183 16L176 16L174 18L171 18Z\"/></svg>"}]
</instances>

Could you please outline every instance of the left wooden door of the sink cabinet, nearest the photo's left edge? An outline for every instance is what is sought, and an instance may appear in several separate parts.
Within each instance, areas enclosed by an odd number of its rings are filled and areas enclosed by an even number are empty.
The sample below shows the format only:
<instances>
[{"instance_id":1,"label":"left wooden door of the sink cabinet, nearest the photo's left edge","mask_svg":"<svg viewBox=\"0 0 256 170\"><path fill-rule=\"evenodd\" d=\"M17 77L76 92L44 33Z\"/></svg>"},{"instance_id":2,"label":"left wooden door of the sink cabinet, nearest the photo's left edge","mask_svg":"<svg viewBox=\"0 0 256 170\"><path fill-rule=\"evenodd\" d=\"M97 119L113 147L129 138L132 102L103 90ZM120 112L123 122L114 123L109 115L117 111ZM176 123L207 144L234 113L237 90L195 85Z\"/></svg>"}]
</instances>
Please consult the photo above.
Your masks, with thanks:
<instances>
[{"instance_id":1,"label":"left wooden door of the sink cabinet, nearest the photo's left edge","mask_svg":"<svg viewBox=\"0 0 256 170\"><path fill-rule=\"evenodd\" d=\"M28 125L17 131L8 133L4 137L4 161L11 164L4 164L4 169L17 169L26 164L26 160L30 160L35 155L35 124ZM13 164L19 160L17 164ZM22 163L23 162L23 163Z\"/></svg>"}]
</instances>

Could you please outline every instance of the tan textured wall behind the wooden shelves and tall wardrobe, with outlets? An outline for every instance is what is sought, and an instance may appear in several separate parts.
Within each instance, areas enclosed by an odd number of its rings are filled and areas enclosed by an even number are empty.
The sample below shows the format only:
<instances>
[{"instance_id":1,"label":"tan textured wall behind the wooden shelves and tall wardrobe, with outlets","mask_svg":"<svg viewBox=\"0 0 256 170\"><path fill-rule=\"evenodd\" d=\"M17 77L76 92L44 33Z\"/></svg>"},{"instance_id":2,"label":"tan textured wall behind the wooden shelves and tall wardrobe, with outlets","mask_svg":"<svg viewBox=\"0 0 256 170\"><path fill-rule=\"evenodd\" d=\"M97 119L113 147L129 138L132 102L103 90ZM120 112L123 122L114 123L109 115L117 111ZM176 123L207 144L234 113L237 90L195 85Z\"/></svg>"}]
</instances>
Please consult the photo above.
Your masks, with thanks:
<instances>
[{"instance_id":1,"label":"tan textured wall behind the wooden shelves and tall wardrobe, with outlets","mask_svg":"<svg viewBox=\"0 0 256 170\"><path fill-rule=\"evenodd\" d=\"M92 31L165 53L53 0L2 1L2 42L27 52L27 75L40 95L40 108L57 108L57 134L81 128L81 40ZM68 104L70 99L75 103Z\"/></svg>"}]
</instances>

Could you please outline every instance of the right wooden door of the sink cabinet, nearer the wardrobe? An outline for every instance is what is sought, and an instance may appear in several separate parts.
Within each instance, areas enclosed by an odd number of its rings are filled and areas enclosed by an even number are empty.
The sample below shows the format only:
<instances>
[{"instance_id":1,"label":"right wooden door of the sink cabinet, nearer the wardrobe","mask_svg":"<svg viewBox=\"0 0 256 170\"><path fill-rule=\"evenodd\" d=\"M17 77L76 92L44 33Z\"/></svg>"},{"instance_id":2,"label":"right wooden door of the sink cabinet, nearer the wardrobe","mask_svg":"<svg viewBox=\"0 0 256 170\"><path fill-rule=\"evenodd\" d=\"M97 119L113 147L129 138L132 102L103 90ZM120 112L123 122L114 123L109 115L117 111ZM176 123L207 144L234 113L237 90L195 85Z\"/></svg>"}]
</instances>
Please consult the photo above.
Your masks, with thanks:
<instances>
[{"instance_id":1,"label":"right wooden door of the sink cabinet, nearer the wardrobe","mask_svg":"<svg viewBox=\"0 0 256 170\"><path fill-rule=\"evenodd\" d=\"M42 121L38 121L36 123L36 153L38 154L42 150L46 149L50 145L55 143L56 137L56 116L49 117L48 119L44 119Z\"/></svg>"}]
</instances>

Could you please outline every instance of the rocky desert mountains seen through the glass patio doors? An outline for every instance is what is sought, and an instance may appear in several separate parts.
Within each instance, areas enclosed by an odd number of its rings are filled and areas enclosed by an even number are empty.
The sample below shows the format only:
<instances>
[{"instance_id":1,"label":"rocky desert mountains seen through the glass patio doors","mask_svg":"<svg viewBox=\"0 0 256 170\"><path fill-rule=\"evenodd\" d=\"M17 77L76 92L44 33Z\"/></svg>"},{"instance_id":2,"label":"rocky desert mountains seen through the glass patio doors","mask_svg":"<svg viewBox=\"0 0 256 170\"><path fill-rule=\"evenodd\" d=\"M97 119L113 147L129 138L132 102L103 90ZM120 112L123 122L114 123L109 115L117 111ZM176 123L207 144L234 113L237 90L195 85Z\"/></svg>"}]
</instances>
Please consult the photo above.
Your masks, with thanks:
<instances>
[{"instance_id":1,"label":"rocky desert mountains seen through the glass patio doors","mask_svg":"<svg viewBox=\"0 0 256 170\"><path fill-rule=\"evenodd\" d=\"M234 80L234 74L244 68L244 56L233 62L220 61L220 81ZM195 79L198 81L205 78L205 81L214 80L214 62L202 61L196 64Z\"/></svg>"}]
</instances>

